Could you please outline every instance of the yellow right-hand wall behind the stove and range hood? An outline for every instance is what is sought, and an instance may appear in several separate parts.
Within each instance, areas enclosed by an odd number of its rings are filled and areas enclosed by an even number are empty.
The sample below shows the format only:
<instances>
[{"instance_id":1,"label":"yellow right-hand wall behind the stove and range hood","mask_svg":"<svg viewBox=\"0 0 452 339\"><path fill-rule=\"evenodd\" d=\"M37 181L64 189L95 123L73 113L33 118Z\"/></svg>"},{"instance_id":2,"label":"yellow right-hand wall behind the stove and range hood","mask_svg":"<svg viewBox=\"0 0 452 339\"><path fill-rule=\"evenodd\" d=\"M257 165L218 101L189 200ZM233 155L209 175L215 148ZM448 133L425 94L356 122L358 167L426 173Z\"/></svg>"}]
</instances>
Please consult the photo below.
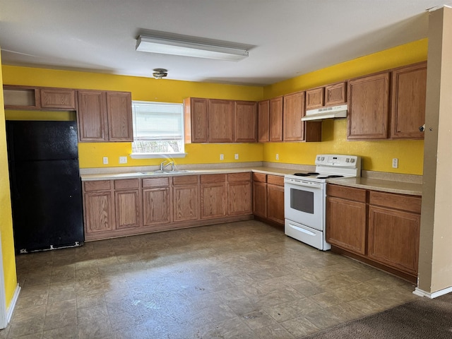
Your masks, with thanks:
<instances>
[{"instance_id":1,"label":"yellow right-hand wall behind the stove and range hood","mask_svg":"<svg viewBox=\"0 0 452 339\"><path fill-rule=\"evenodd\" d=\"M275 97L424 60L427 60L427 39L275 83L264 88L263 93L266 98ZM266 143L263 160L277 162L275 154L278 153L278 162L314 165L316 154L353 154L363 157L363 169L422 174L424 141L347 141L346 138L346 119L325 120L321 143ZM392 168L393 157L398 158L397 169Z\"/></svg>"}]
</instances>

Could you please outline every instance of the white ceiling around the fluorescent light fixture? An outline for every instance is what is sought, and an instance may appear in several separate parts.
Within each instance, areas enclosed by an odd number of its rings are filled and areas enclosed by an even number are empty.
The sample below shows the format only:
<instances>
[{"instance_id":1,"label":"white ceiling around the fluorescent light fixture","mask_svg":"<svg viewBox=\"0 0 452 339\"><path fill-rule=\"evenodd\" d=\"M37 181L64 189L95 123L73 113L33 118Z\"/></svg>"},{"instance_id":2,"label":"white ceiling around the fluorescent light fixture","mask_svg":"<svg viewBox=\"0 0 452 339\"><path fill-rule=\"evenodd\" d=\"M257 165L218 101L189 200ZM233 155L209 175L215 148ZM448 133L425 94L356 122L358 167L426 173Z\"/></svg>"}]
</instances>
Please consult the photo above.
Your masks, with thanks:
<instances>
[{"instance_id":1,"label":"white ceiling around the fluorescent light fixture","mask_svg":"<svg viewBox=\"0 0 452 339\"><path fill-rule=\"evenodd\" d=\"M0 0L2 64L268 85L427 37L452 0ZM219 61L137 52L143 30L250 45Z\"/></svg>"}]
</instances>

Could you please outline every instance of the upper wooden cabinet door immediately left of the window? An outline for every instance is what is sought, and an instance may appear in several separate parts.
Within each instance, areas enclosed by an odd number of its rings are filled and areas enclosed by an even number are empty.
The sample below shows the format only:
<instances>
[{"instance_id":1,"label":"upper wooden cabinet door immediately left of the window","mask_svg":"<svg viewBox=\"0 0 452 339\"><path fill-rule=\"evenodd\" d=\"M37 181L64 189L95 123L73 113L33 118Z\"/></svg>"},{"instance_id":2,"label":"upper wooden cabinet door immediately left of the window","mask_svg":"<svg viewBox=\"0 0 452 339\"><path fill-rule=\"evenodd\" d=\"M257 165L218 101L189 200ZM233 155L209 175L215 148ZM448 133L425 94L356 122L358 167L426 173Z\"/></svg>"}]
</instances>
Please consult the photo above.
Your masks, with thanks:
<instances>
[{"instance_id":1,"label":"upper wooden cabinet door immediately left of the window","mask_svg":"<svg viewBox=\"0 0 452 339\"><path fill-rule=\"evenodd\" d=\"M132 99L129 92L107 92L109 141L133 141Z\"/></svg>"}]
</instances>

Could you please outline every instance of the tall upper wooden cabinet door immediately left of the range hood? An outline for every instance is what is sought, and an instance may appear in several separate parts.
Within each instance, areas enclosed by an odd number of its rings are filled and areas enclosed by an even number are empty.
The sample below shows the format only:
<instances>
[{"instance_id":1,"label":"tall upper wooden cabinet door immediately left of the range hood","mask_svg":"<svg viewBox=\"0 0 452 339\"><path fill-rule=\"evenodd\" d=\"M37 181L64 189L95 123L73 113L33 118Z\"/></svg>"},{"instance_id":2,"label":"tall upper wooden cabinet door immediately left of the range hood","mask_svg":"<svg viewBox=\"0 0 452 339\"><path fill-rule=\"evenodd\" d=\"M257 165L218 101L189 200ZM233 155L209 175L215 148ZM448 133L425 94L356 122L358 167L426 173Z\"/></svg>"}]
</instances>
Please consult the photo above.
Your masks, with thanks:
<instances>
[{"instance_id":1,"label":"tall upper wooden cabinet door immediately left of the range hood","mask_svg":"<svg viewBox=\"0 0 452 339\"><path fill-rule=\"evenodd\" d=\"M284 96L283 140L302 141L304 139L304 92Z\"/></svg>"}]
</instances>

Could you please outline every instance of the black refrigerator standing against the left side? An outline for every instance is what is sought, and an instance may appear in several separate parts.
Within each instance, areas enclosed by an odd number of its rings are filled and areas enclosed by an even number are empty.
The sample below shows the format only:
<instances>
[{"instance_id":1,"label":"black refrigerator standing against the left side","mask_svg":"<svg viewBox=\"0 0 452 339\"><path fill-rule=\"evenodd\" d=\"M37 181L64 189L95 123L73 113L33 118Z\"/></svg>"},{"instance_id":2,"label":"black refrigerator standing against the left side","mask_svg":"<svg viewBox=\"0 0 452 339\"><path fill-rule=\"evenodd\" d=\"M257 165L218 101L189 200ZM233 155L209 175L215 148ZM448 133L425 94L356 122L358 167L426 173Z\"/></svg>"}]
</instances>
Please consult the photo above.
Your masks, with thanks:
<instances>
[{"instance_id":1,"label":"black refrigerator standing against the left side","mask_svg":"<svg viewBox=\"0 0 452 339\"><path fill-rule=\"evenodd\" d=\"M16 253L81 246L76 121L6 121Z\"/></svg>"}]
</instances>

